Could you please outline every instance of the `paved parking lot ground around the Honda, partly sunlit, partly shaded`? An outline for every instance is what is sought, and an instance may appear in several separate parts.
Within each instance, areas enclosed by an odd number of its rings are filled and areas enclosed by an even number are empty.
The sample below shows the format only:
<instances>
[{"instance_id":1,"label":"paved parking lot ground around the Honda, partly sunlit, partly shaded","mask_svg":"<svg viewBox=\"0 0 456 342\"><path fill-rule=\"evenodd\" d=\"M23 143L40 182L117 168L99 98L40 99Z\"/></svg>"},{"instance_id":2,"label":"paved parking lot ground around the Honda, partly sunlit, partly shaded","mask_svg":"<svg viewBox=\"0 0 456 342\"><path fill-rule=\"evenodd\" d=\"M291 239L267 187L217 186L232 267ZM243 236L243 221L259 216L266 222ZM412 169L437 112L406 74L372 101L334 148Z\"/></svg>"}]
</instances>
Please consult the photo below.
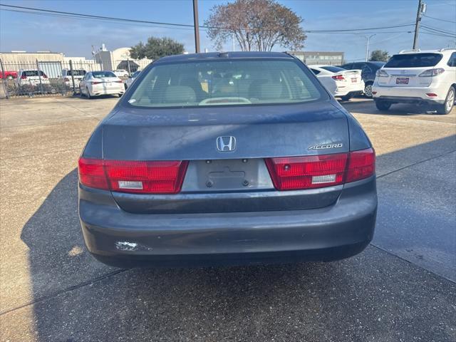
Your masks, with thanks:
<instances>
[{"instance_id":1,"label":"paved parking lot ground around the Honda, partly sunlit, partly shaded","mask_svg":"<svg viewBox=\"0 0 456 342\"><path fill-rule=\"evenodd\" d=\"M1 341L456 341L456 109L343 103L378 155L356 257L115 269L84 247L76 165L117 100L0 101Z\"/></svg>"}]
</instances>

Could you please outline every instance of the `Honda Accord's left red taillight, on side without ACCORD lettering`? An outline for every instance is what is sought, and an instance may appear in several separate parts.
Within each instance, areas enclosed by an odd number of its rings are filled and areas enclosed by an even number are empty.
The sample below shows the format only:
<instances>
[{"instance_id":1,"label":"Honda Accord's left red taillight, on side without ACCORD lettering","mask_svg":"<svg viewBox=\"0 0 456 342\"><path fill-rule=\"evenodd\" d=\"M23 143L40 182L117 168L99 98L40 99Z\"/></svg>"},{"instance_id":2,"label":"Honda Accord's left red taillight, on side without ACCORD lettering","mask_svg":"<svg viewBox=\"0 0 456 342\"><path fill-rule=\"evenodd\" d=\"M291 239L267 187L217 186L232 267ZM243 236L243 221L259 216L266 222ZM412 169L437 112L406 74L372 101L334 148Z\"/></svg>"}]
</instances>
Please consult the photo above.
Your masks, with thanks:
<instances>
[{"instance_id":1,"label":"Honda Accord's left red taillight, on side without ACCORD lettering","mask_svg":"<svg viewBox=\"0 0 456 342\"><path fill-rule=\"evenodd\" d=\"M79 180L87 187L140 194L176 194L187 161L79 160Z\"/></svg>"}]
</instances>

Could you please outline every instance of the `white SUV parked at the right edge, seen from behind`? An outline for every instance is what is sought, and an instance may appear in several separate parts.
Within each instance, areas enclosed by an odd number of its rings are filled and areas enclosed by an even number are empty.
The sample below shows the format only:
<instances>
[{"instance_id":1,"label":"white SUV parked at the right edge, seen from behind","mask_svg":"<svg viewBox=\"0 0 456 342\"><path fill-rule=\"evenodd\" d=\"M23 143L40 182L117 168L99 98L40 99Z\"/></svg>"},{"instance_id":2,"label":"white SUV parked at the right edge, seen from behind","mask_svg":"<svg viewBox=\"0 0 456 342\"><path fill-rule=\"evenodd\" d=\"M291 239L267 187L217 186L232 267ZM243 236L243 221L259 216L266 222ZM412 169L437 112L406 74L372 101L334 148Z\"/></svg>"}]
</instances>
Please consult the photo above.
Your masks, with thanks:
<instances>
[{"instance_id":1,"label":"white SUV parked at the right edge, seen from behind","mask_svg":"<svg viewBox=\"0 0 456 342\"><path fill-rule=\"evenodd\" d=\"M377 71L372 87L375 105L427 103L447 114L455 104L456 48L401 51Z\"/></svg>"}]
</instances>

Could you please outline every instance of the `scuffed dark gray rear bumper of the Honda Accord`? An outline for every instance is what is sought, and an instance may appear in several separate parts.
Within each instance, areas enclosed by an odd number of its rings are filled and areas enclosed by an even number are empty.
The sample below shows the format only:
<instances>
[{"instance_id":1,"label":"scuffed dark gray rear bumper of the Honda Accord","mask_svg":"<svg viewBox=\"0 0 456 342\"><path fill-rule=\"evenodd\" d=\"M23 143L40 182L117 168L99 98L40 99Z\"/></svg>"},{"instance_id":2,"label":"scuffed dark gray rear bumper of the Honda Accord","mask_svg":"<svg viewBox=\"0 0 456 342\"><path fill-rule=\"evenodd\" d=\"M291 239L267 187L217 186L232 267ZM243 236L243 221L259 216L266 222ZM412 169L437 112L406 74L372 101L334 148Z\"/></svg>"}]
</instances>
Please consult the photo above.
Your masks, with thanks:
<instances>
[{"instance_id":1,"label":"scuffed dark gray rear bumper of the Honda Accord","mask_svg":"<svg viewBox=\"0 0 456 342\"><path fill-rule=\"evenodd\" d=\"M91 195L87 192L93 192ZM87 199L97 200L90 202ZM80 186L88 250L113 266L201 266L332 261L361 252L375 227L375 177L348 185L321 209L131 214Z\"/></svg>"}]
</instances>

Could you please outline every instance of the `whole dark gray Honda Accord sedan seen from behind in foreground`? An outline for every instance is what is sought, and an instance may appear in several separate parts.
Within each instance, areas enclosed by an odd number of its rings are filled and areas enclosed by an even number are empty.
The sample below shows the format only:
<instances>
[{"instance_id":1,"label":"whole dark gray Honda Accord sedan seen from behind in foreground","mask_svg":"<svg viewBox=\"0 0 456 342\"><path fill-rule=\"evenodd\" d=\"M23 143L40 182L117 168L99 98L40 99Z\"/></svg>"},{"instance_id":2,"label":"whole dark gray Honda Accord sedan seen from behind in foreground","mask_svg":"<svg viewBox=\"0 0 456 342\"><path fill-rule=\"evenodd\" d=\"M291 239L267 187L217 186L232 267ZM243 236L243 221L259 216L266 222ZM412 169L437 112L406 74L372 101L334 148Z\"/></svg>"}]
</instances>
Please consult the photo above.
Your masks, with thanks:
<instances>
[{"instance_id":1,"label":"whole dark gray Honda Accord sedan seen from behind in foreground","mask_svg":"<svg viewBox=\"0 0 456 342\"><path fill-rule=\"evenodd\" d=\"M86 245L114 266L332 261L375 227L371 142L286 53L155 61L78 173Z\"/></svg>"}]
</instances>

